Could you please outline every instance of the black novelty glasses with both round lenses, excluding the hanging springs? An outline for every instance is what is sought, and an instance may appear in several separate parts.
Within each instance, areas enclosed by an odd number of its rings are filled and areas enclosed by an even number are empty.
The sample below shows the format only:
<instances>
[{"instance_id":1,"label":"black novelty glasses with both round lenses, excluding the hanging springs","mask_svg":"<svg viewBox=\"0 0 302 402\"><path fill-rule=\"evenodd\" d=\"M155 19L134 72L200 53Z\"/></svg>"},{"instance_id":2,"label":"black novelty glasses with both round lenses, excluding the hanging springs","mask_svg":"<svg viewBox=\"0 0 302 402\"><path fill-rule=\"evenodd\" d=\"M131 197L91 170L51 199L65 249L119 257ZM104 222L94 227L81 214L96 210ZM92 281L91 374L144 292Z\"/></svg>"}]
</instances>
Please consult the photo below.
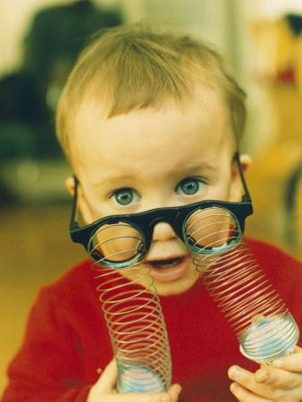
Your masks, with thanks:
<instances>
[{"instance_id":1,"label":"black novelty glasses with both round lenses, excluding the hanging springs","mask_svg":"<svg viewBox=\"0 0 302 402\"><path fill-rule=\"evenodd\" d=\"M138 264L151 245L153 230L159 222L167 222L187 247L212 253L231 243L237 244L238 231L233 230L234 217L243 232L245 219L253 214L251 198L239 162L244 195L239 203L205 200L194 204L156 208L138 214L106 216L87 226L75 221L77 210L77 184L74 177L74 196L71 212L70 233L75 243L82 244L90 258L98 264L111 268L124 268Z\"/></svg>"}]
</instances>

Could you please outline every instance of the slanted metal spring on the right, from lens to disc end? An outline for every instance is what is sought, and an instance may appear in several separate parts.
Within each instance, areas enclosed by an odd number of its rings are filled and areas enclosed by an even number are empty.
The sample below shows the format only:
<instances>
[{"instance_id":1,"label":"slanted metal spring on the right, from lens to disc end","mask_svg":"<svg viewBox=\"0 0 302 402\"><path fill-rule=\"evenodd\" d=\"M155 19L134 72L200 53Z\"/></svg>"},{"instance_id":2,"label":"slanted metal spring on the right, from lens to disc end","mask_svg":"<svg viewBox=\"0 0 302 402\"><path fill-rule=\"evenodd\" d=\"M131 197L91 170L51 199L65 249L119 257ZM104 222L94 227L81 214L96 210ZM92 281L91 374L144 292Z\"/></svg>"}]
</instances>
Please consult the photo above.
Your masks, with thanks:
<instances>
[{"instance_id":1,"label":"slanted metal spring on the right, from lens to disc end","mask_svg":"<svg viewBox=\"0 0 302 402\"><path fill-rule=\"evenodd\" d=\"M256 263L236 217L197 210L184 227L190 256L214 302L231 323L244 356L270 363L289 354L298 327Z\"/></svg>"}]
</instances>

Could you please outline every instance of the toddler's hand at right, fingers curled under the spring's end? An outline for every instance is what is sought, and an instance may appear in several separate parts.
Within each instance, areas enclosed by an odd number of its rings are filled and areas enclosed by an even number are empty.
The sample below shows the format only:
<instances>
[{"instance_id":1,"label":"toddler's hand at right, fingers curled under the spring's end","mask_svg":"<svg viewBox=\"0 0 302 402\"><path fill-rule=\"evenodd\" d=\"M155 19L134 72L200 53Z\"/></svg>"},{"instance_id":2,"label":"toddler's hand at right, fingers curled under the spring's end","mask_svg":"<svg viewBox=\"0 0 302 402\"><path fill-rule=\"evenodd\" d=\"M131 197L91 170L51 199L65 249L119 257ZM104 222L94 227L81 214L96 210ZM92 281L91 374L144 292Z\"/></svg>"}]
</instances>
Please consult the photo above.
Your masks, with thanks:
<instances>
[{"instance_id":1,"label":"toddler's hand at right, fingers curled under the spring's end","mask_svg":"<svg viewBox=\"0 0 302 402\"><path fill-rule=\"evenodd\" d=\"M302 349L275 360L272 365L262 365L255 374L232 366L229 377L236 381L231 392L241 402L266 402L272 400L300 402L302 400Z\"/></svg>"}]
</instances>

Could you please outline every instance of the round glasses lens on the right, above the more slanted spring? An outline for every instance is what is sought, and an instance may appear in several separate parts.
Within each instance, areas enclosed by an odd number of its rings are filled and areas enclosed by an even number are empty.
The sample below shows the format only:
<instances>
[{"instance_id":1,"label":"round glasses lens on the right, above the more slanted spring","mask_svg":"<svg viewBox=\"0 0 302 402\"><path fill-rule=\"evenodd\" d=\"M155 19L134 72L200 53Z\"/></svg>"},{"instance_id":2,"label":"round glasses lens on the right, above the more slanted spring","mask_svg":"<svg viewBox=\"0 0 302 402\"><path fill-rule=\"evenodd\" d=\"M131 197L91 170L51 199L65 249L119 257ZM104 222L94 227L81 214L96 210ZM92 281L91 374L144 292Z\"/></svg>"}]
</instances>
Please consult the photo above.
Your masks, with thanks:
<instances>
[{"instance_id":1,"label":"round glasses lens on the right, above the more slanted spring","mask_svg":"<svg viewBox=\"0 0 302 402\"><path fill-rule=\"evenodd\" d=\"M197 209L184 222L184 238L189 249L223 253L229 250L227 246L240 239L239 223L226 209Z\"/></svg>"}]
</instances>

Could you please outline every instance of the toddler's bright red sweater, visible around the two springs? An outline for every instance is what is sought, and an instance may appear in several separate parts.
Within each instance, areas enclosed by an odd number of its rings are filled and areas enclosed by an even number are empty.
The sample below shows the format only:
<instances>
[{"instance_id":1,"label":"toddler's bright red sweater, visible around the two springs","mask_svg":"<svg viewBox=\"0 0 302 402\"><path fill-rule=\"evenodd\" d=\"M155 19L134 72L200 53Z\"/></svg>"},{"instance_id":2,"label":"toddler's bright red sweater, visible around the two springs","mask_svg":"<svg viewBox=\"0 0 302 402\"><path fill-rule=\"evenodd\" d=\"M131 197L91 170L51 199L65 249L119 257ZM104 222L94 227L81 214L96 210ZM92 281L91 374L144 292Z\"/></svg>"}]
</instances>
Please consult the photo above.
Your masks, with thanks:
<instances>
[{"instance_id":1,"label":"toddler's bright red sweater, visible around the two springs","mask_svg":"<svg viewBox=\"0 0 302 402\"><path fill-rule=\"evenodd\" d=\"M256 240L249 247L302 328L302 264ZM90 263L72 267L39 290L25 339L8 369L3 402L86 401L113 350ZM239 353L230 325L201 281L178 296L161 297L172 354L172 383L181 402L232 401L227 371L253 364Z\"/></svg>"}]
</instances>

